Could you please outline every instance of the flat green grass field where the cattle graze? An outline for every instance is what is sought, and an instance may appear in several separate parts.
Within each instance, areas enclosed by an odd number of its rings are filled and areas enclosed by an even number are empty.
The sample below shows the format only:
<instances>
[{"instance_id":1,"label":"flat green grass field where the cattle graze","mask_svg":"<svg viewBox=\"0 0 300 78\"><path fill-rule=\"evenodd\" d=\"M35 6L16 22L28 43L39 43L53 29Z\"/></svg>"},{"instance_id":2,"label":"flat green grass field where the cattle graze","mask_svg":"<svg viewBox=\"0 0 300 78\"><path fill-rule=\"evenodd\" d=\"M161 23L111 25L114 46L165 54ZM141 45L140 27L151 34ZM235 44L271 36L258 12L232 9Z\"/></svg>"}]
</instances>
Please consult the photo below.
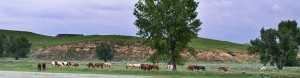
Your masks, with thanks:
<instances>
[{"instance_id":1,"label":"flat green grass field where the cattle graze","mask_svg":"<svg viewBox=\"0 0 300 78\"><path fill-rule=\"evenodd\" d=\"M125 62L111 62L113 68L92 69L86 66L87 61L72 61L79 62L80 67L52 67L50 61L21 59L18 61L12 59L1 59L0 70L2 71L31 71L40 72L36 68L37 62L46 62L47 69L45 72L55 73L80 73L80 74L112 74L112 75L137 75L137 76L154 76L163 78L257 78L260 76L260 64L233 64L233 63L187 63L206 66L206 71L187 71L186 66L179 66L178 72L174 73L165 69L165 64L159 64L159 71L141 71L138 69L126 69ZM140 62L129 62L140 63ZM217 67L229 67L229 71L224 73L218 71ZM285 67L281 71L277 71L273 66L267 66L265 72L271 78L299 78L300 71L298 67Z\"/></svg>"}]
</instances>

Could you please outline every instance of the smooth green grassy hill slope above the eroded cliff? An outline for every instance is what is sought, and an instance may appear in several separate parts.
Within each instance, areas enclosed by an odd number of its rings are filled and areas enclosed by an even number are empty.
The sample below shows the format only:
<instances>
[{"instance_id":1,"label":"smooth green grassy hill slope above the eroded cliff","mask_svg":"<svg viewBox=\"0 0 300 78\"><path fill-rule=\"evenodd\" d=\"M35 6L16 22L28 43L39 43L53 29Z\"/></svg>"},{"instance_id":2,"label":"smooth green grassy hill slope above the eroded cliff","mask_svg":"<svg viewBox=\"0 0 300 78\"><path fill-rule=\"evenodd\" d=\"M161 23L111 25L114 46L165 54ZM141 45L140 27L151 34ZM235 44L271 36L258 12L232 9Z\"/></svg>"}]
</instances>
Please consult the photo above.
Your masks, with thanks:
<instances>
[{"instance_id":1,"label":"smooth green grassy hill slope above the eroded cliff","mask_svg":"<svg viewBox=\"0 0 300 78\"><path fill-rule=\"evenodd\" d=\"M4 34L6 36L14 35L14 36L27 37L29 41L33 44L33 47L35 48L49 46L49 45L84 42L84 41L91 41L91 40L110 40L114 42L130 42L130 43L136 43L141 40L141 38L139 37L121 36L121 35L89 35L89 36L81 36L81 37L57 38L57 37L36 34L32 32L13 31L13 30L0 30L0 34ZM192 42L190 43L190 46L195 48L196 50L224 50L224 51L232 51L232 52L245 51L247 47L247 45L243 45L243 44L212 40L206 38L193 39Z\"/></svg>"}]
</instances>

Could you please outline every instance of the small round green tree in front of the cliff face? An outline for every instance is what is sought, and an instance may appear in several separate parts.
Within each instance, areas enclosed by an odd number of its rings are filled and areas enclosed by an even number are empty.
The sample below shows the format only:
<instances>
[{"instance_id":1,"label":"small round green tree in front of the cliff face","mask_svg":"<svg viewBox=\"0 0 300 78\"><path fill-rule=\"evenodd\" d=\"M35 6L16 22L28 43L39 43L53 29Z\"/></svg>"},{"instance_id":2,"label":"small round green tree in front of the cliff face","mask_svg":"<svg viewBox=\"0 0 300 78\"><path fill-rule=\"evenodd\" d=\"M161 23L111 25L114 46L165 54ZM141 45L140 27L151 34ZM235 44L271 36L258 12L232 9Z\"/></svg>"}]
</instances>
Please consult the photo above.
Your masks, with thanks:
<instances>
[{"instance_id":1,"label":"small round green tree in front of the cliff face","mask_svg":"<svg viewBox=\"0 0 300 78\"><path fill-rule=\"evenodd\" d=\"M114 53L116 52L113 46L109 44L100 44L96 47L96 52L99 60L111 60L114 57Z\"/></svg>"}]
</instances>

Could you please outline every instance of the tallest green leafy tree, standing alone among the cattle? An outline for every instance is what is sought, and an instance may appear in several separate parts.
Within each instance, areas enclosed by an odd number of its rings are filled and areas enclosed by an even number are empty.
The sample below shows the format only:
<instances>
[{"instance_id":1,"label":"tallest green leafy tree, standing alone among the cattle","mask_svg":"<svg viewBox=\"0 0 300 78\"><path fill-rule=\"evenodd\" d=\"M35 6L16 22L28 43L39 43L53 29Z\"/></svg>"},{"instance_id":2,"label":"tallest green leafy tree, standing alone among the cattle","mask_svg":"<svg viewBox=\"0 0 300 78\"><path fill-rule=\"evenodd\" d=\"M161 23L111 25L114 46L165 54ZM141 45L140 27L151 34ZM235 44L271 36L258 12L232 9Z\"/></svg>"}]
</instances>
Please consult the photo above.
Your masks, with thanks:
<instances>
[{"instance_id":1,"label":"tallest green leafy tree, standing alone among the cattle","mask_svg":"<svg viewBox=\"0 0 300 78\"><path fill-rule=\"evenodd\" d=\"M171 62L173 71L183 63L180 53L200 30L198 4L194 0L139 0L135 4L137 34L156 50L150 60Z\"/></svg>"}]
</instances>

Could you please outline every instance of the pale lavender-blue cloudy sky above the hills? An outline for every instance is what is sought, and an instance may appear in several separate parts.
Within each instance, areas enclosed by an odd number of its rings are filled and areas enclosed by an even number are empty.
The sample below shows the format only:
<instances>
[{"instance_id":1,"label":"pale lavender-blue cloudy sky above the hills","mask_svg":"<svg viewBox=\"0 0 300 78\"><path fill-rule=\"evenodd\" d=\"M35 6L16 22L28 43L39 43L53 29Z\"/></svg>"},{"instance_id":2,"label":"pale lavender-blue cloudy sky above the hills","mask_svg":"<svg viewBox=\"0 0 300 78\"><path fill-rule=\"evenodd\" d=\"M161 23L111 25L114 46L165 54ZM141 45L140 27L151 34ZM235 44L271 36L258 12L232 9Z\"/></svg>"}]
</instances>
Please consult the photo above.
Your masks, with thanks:
<instances>
[{"instance_id":1,"label":"pale lavender-blue cloudy sky above the hills","mask_svg":"<svg viewBox=\"0 0 300 78\"><path fill-rule=\"evenodd\" d=\"M138 0L0 0L0 29L57 34L137 36ZM280 21L300 22L299 0L196 0L199 37L249 43Z\"/></svg>"}]
</instances>

